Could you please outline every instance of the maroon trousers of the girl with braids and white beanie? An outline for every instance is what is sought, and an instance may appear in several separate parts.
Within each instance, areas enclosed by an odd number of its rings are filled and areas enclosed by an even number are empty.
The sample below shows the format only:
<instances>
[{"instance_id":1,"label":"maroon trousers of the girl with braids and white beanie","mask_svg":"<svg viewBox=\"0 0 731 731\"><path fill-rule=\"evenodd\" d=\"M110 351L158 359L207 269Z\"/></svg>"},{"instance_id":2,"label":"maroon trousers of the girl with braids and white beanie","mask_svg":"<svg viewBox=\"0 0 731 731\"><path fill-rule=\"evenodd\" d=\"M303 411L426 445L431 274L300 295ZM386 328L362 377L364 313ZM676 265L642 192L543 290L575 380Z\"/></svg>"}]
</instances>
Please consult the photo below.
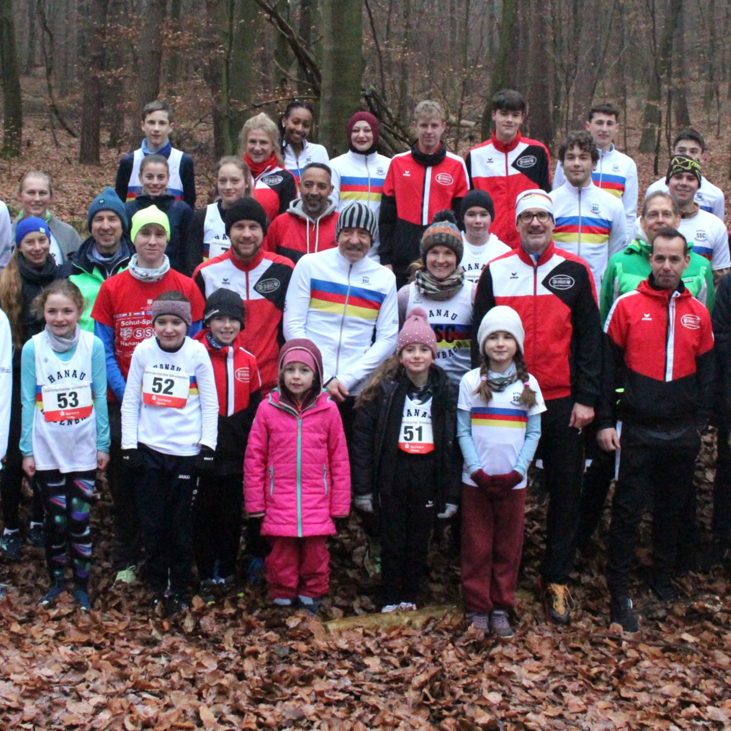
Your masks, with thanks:
<instances>
[{"instance_id":1,"label":"maroon trousers of the girl with braids and white beanie","mask_svg":"<svg viewBox=\"0 0 731 731\"><path fill-rule=\"evenodd\" d=\"M486 491L462 485L462 599L488 613L515 604L526 491Z\"/></svg>"}]
</instances>

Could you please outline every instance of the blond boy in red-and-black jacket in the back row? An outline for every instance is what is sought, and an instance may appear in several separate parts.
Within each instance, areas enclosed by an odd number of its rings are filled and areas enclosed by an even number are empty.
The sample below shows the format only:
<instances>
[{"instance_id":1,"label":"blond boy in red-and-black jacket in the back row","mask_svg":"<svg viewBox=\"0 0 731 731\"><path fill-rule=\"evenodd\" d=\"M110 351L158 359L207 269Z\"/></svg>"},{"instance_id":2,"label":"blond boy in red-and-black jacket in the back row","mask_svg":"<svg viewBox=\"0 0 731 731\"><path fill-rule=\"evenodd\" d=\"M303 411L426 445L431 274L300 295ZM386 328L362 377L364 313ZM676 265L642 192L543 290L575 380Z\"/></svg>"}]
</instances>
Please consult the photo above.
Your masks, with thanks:
<instances>
[{"instance_id":1,"label":"blond boy in red-and-black jacket in the back row","mask_svg":"<svg viewBox=\"0 0 731 731\"><path fill-rule=\"evenodd\" d=\"M392 160L383 184L379 211L381 263L396 275L396 287L408 279L409 265L419 258L421 237L434 213L451 208L458 216L469 190L461 157L447 152L442 105L425 99L414 110L417 140L411 151Z\"/></svg>"}]
</instances>

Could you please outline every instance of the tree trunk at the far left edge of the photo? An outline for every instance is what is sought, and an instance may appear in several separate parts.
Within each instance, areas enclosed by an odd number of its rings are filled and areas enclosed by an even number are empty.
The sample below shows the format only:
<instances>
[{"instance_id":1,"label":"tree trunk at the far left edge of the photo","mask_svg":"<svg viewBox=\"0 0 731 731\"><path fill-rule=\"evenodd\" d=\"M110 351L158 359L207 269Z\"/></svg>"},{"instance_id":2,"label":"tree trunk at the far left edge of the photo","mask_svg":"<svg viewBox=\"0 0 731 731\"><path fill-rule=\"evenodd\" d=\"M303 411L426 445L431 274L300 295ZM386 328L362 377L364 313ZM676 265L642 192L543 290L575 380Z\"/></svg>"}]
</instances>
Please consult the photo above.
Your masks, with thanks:
<instances>
[{"instance_id":1,"label":"tree trunk at the far left edge of the photo","mask_svg":"<svg viewBox=\"0 0 731 731\"><path fill-rule=\"evenodd\" d=\"M20 68L15 48L15 18L12 0L0 0L0 66L3 95L3 155L20 155L23 133L23 101L20 96Z\"/></svg>"}]
</instances>

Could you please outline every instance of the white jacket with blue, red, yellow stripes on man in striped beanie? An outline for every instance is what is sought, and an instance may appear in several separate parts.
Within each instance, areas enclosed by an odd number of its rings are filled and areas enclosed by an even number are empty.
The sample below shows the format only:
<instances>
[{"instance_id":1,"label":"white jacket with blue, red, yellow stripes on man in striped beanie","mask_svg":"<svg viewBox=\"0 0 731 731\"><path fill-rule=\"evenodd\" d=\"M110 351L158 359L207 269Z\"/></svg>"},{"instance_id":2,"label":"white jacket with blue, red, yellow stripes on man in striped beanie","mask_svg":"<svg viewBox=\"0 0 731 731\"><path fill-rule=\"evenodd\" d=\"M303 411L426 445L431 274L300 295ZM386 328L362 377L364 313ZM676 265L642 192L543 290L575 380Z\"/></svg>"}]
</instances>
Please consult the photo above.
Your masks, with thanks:
<instances>
[{"instance_id":1,"label":"white jacket with blue, red, yellow stripes on man in striped beanie","mask_svg":"<svg viewBox=\"0 0 731 731\"><path fill-rule=\"evenodd\" d=\"M360 393L395 350L393 272L369 257L352 264L338 249L306 254L289 280L284 338L309 338L322 353L325 381L335 376L351 395Z\"/></svg>"}]
</instances>

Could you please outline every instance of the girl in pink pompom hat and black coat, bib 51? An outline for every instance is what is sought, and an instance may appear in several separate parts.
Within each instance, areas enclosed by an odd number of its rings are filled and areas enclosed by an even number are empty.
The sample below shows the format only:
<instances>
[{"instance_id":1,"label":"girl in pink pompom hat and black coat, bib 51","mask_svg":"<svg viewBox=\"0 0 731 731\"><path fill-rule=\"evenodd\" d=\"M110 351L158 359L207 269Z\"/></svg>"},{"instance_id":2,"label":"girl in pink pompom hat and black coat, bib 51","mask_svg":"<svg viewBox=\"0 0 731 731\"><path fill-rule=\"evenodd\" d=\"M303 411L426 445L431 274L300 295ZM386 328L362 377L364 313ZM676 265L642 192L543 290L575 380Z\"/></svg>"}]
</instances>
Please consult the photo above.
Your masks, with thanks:
<instances>
[{"instance_id":1,"label":"girl in pink pompom hat and black coat, bib 51","mask_svg":"<svg viewBox=\"0 0 731 731\"><path fill-rule=\"evenodd\" d=\"M436 337L415 307L398 333L396 355L356 402L354 504L379 523L382 612L416 609L434 514L446 520L457 512L457 387L435 359Z\"/></svg>"}]
</instances>

